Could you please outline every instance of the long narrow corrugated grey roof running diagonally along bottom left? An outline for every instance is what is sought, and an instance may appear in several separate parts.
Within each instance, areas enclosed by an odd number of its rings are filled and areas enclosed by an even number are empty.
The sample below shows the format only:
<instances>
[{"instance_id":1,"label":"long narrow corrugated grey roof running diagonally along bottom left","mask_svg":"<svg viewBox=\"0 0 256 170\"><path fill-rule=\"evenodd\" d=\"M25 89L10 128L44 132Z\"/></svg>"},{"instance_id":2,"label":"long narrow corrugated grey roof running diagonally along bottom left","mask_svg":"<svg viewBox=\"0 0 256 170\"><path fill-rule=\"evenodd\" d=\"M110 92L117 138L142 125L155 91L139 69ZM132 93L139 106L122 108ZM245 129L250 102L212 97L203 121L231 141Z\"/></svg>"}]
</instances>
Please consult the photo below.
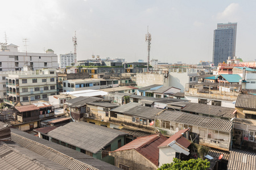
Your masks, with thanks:
<instances>
[{"instance_id":1,"label":"long narrow corrugated grey roof running diagonally along bottom left","mask_svg":"<svg viewBox=\"0 0 256 170\"><path fill-rule=\"evenodd\" d=\"M35 137L18 129L11 129L11 139L18 145L28 148L28 150L68 169L119 169L92 156L49 142L46 139Z\"/></svg>"}]
</instances>

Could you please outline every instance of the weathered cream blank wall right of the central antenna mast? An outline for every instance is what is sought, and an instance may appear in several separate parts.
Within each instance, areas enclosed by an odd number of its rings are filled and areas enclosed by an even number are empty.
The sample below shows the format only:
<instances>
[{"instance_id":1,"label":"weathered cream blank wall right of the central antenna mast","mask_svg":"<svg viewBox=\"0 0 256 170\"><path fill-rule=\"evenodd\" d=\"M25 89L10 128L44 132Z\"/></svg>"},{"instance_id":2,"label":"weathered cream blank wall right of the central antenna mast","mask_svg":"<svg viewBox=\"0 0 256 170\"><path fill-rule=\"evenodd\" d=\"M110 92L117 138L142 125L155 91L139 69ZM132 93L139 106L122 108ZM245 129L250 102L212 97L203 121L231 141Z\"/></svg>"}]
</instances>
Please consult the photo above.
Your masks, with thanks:
<instances>
[{"instance_id":1,"label":"weathered cream blank wall right of the central antenna mast","mask_svg":"<svg viewBox=\"0 0 256 170\"><path fill-rule=\"evenodd\" d=\"M152 84L163 84L163 74L148 74L148 73L137 73L136 83L139 87L150 86Z\"/></svg>"}]
</instances>

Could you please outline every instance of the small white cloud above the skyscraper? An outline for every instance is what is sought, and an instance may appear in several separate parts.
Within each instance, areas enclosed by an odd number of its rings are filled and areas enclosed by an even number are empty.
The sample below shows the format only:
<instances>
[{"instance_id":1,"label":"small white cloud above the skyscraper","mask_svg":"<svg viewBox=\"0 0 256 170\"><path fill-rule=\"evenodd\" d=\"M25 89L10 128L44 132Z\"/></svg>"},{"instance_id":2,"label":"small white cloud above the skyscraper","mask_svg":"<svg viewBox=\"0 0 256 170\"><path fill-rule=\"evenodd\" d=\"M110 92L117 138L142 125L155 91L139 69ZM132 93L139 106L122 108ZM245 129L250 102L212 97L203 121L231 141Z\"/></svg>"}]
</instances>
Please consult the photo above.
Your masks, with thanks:
<instances>
[{"instance_id":1,"label":"small white cloud above the skyscraper","mask_svg":"<svg viewBox=\"0 0 256 170\"><path fill-rule=\"evenodd\" d=\"M222 20L222 19L238 19L238 11L240 10L240 6L238 3L231 3L228 7L225 8L224 11L218 12L216 15L216 19Z\"/></svg>"}]
</instances>

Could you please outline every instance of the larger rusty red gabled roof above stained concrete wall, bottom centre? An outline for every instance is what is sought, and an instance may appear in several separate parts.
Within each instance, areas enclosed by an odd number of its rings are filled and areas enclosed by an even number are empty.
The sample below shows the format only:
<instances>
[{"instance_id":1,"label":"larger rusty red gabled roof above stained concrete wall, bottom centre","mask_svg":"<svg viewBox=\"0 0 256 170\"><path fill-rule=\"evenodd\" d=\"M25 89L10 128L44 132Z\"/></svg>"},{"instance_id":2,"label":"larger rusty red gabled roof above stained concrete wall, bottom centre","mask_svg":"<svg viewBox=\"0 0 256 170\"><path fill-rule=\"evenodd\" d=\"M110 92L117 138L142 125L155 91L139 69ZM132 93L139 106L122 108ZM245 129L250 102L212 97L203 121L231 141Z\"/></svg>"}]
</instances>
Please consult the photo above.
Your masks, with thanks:
<instances>
[{"instance_id":1,"label":"larger rusty red gabled roof above stained concrete wall, bottom centre","mask_svg":"<svg viewBox=\"0 0 256 170\"><path fill-rule=\"evenodd\" d=\"M166 141L167 138L160 134L148 135L145 137L139 137L125 146L118 148L113 152L125 151L134 149L150 160L156 166L158 166L159 148L160 143Z\"/></svg>"}]
</instances>

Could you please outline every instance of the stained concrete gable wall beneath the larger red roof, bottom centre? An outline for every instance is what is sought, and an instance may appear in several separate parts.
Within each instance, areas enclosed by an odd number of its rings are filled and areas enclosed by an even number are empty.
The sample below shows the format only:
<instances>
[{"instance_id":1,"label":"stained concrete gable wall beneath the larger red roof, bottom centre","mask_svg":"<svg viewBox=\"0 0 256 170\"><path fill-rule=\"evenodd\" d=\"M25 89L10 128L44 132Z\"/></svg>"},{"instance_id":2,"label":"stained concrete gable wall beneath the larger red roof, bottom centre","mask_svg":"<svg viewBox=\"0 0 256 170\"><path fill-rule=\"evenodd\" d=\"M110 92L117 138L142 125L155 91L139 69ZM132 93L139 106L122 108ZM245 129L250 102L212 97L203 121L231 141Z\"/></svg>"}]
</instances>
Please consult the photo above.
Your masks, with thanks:
<instances>
[{"instance_id":1,"label":"stained concrete gable wall beneath the larger red roof, bottom centre","mask_svg":"<svg viewBox=\"0 0 256 170\"><path fill-rule=\"evenodd\" d=\"M115 166L119 167L119 164L126 165L130 168L130 170L155 170L158 167L150 162L150 160L144 158L141 154L137 151L133 150L126 150L126 151L119 151L119 152L112 152L110 155L114 156L115 158Z\"/></svg>"}]
</instances>

